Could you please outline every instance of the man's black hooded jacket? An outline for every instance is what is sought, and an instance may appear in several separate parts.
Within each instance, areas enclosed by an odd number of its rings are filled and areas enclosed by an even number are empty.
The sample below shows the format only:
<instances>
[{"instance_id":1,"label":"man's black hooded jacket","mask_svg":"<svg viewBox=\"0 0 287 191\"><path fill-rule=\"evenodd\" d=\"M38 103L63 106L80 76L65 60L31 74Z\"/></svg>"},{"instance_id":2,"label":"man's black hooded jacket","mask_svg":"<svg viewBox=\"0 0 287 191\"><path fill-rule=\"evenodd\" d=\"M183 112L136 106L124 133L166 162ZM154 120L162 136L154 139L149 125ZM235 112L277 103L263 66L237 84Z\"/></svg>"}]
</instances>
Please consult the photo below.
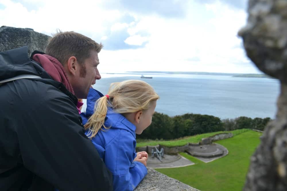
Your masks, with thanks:
<instances>
[{"instance_id":1,"label":"man's black hooded jacket","mask_svg":"<svg viewBox=\"0 0 287 191\"><path fill-rule=\"evenodd\" d=\"M27 52L0 52L0 81L42 77L0 85L0 190L113 190L112 174L84 134L77 98Z\"/></svg>"}]
</instances>

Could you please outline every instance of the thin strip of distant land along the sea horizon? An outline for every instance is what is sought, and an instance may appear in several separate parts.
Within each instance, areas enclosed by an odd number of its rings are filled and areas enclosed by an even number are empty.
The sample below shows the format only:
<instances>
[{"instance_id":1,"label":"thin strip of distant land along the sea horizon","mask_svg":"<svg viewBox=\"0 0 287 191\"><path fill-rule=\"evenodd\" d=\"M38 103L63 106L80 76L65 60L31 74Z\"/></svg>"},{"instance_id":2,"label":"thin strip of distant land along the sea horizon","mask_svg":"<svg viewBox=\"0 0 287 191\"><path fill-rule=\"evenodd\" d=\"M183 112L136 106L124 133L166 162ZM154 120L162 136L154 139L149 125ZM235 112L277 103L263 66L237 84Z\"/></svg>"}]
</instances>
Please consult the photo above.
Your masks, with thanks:
<instances>
[{"instance_id":1,"label":"thin strip of distant land along the sea horizon","mask_svg":"<svg viewBox=\"0 0 287 191\"><path fill-rule=\"evenodd\" d=\"M194 74L194 75L219 75L232 76L240 78L273 78L267 74L238 74L238 73L220 73L220 72L167 72L167 71L129 71L130 73L158 73L158 74Z\"/></svg>"}]
</instances>

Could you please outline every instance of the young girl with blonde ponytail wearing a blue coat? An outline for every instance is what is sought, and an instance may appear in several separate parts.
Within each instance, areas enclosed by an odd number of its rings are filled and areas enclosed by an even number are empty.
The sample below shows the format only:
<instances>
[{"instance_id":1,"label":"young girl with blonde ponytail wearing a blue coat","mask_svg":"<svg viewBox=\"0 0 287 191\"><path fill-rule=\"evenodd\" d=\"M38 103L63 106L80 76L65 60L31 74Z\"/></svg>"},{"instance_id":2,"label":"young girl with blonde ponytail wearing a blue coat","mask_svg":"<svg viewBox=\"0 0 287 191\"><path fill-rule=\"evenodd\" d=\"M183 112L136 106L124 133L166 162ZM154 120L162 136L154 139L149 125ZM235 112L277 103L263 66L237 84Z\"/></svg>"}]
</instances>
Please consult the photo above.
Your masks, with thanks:
<instances>
[{"instance_id":1,"label":"young girl with blonde ponytail wearing a blue coat","mask_svg":"<svg viewBox=\"0 0 287 191\"><path fill-rule=\"evenodd\" d=\"M135 153L135 133L151 124L158 98L141 80L112 83L105 96L90 89L81 116L86 135L113 173L114 190L134 190L147 174L148 154Z\"/></svg>"}]
</instances>

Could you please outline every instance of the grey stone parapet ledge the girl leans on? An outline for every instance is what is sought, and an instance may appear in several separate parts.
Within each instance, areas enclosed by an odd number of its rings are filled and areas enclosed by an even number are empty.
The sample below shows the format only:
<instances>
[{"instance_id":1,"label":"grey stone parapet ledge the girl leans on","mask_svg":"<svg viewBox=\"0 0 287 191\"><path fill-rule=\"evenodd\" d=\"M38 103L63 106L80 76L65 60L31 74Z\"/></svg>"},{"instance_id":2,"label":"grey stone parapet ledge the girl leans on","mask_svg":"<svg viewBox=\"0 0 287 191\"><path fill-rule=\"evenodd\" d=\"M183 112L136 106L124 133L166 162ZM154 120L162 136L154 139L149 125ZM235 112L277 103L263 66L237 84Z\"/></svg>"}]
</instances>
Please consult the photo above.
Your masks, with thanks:
<instances>
[{"instance_id":1,"label":"grey stone parapet ledge the girl leans on","mask_svg":"<svg viewBox=\"0 0 287 191\"><path fill-rule=\"evenodd\" d=\"M148 168L148 174L144 180L139 183L135 188L135 191L146 191L146 190L172 190L172 191L200 191L191 186L179 182L173 178L170 178L152 168Z\"/></svg>"}]
</instances>

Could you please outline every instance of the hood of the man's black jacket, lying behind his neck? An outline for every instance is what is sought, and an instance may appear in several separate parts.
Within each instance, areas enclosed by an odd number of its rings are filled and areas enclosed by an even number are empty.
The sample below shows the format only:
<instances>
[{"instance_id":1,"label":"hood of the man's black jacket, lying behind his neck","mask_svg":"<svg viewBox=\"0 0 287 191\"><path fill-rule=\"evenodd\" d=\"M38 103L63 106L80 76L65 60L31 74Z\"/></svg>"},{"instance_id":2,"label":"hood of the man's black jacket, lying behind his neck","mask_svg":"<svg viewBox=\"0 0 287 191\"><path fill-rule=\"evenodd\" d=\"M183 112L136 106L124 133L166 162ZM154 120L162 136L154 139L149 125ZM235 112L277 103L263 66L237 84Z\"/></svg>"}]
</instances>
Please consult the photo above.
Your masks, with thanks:
<instances>
[{"instance_id":1,"label":"hood of the man's black jacket, lying behind his neck","mask_svg":"<svg viewBox=\"0 0 287 191\"><path fill-rule=\"evenodd\" d=\"M22 74L51 79L40 64L28 57L27 46L0 52L0 81Z\"/></svg>"}]
</instances>

